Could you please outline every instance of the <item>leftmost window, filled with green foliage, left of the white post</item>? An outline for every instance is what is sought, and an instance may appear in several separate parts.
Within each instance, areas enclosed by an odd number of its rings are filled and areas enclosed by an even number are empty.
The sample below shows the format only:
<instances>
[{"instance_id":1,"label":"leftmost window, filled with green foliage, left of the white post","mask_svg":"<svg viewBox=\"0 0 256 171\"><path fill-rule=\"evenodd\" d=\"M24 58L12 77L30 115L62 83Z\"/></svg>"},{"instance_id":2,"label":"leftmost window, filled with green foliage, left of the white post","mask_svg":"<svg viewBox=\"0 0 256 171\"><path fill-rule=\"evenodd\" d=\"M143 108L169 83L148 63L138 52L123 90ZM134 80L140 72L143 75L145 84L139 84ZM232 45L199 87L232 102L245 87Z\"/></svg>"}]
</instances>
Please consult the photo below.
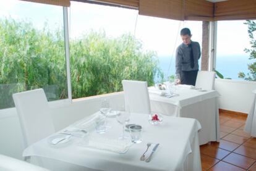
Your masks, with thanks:
<instances>
[{"instance_id":1,"label":"leftmost window, filled with green foliage, left of the white post","mask_svg":"<svg viewBox=\"0 0 256 171\"><path fill-rule=\"evenodd\" d=\"M14 107L13 93L36 88L49 101L67 98L63 30L61 6L0 2L0 109Z\"/></svg>"}]
</instances>

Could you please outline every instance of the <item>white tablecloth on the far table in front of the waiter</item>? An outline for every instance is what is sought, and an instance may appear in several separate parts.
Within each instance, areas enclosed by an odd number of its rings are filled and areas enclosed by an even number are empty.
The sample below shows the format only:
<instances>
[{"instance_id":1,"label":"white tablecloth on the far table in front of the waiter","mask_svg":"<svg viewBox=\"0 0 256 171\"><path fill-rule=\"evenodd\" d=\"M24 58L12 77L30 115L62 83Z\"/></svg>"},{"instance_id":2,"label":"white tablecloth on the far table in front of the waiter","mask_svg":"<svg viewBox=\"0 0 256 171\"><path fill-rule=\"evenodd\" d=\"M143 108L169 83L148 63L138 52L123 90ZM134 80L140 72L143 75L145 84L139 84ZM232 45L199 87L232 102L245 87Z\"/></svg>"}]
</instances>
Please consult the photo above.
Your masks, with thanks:
<instances>
[{"instance_id":1,"label":"white tablecloth on the far table in front of the waiter","mask_svg":"<svg viewBox=\"0 0 256 171\"><path fill-rule=\"evenodd\" d=\"M218 97L215 90L197 91L177 86L178 96L166 98L157 93L151 93L155 88L149 88L151 111L175 117L197 119L202 129L199 131L199 144L220 140L220 121Z\"/></svg>"}]
</instances>

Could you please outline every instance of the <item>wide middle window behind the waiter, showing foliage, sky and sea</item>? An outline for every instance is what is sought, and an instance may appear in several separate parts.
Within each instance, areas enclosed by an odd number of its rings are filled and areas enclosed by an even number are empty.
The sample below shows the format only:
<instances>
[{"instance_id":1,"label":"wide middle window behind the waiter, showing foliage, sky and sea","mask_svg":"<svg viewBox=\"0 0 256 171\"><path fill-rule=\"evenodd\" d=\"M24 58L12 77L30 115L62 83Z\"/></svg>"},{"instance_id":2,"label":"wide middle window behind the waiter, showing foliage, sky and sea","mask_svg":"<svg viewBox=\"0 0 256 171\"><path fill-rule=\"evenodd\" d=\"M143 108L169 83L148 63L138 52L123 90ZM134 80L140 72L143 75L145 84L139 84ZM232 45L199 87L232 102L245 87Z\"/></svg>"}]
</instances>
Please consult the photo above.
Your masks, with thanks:
<instances>
[{"instance_id":1,"label":"wide middle window behind the waiter, showing foliage, sky and sea","mask_svg":"<svg viewBox=\"0 0 256 171\"><path fill-rule=\"evenodd\" d=\"M149 86L168 79L182 27L202 42L202 22L145 17L121 7L72 1L69 23L73 99L121 91L123 79Z\"/></svg>"}]
</instances>

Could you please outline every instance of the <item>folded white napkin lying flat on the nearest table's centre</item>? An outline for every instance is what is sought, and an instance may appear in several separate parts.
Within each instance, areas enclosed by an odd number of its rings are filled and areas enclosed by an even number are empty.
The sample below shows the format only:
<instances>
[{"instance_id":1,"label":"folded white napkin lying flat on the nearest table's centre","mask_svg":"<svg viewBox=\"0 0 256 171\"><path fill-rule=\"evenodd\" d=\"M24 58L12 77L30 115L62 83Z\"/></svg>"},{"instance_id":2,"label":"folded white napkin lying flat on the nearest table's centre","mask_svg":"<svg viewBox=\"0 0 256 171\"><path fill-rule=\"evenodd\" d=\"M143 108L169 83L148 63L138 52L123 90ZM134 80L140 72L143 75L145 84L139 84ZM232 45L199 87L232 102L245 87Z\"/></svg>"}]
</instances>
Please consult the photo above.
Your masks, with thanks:
<instances>
[{"instance_id":1,"label":"folded white napkin lying flat on the nearest table's centre","mask_svg":"<svg viewBox=\"0 0 256 171\"><path fill-rule=\"evenodd\" d=\"M125 153L132 146L132 142L128 140L117 140L103 138L101 136L90 136L87 147L103 149L117 153Z\"/></svg>"}]
</instances>

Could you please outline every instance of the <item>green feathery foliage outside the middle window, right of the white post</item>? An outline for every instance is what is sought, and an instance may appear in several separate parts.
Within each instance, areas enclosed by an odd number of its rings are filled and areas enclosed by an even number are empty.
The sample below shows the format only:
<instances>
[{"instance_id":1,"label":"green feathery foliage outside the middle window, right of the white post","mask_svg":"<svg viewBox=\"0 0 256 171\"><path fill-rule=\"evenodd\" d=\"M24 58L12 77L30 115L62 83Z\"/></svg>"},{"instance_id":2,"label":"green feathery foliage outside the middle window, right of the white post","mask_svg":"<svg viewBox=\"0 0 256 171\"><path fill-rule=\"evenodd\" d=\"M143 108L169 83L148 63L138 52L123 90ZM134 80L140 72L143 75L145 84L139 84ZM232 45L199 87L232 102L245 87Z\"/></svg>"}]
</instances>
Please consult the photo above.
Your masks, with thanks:
<instances>
[{"instance_id":1,"label":"green feathery foliage outside the middle window, right of the white post","mask_svg":"<svg viewBox=\"0 0 256 171\"><path fill-rule=\"evenodd\" d=\"M144 52L132 35L108 38L103 31L90 31L82 39L70 41L73 98L121 91L124 79L154 85L154 77L160 73L155 56Z\"/></svg>"}]
</instances>

